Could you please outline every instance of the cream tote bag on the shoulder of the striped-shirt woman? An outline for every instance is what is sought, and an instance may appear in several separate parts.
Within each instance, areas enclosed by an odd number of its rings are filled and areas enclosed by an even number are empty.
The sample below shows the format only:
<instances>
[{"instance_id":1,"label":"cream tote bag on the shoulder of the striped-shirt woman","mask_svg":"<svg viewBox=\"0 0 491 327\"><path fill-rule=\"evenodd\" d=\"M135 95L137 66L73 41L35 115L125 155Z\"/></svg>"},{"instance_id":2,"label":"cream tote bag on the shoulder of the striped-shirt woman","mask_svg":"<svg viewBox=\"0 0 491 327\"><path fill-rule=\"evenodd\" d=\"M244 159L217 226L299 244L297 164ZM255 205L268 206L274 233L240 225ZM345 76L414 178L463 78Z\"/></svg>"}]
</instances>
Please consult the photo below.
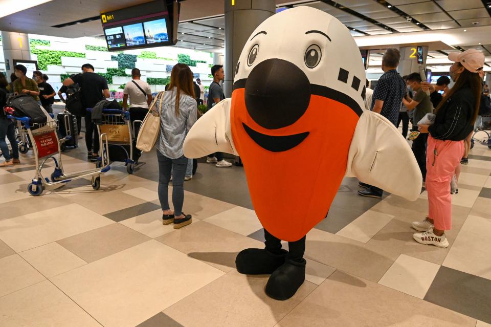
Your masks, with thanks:
<instances>
[{"instance_id":1,"label":"cream tote bag on the shoulder of the striped-shirt woman","mask_svg":"<svg viewBox=\"0 0 491 327\"><path fill-rule=\"evenodd\" d=\"M162 99L163 94L164 92L160 92L153 100L138 133L137 148L144 152L150 152L152 150L160 134L160 115L164 101ZM157 103L158 99L160 99L159 108L156 108L155 103Z\"/></svg>"}]
</instances>

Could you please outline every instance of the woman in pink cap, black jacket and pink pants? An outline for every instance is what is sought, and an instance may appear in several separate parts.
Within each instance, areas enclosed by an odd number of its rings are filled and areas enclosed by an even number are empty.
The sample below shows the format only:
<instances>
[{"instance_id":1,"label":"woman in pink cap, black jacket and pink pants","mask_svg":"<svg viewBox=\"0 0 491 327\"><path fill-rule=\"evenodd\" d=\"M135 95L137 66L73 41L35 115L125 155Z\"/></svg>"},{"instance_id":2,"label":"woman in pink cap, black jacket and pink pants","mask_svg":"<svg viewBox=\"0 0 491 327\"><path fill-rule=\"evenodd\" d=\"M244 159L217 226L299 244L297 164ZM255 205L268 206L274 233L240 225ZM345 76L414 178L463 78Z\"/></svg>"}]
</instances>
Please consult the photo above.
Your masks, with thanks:
<instances>
[{"instance_id":1,"label":"woman in pink cap, black jacket and pink pants","mask_svg":"<svg viewBox=\"0 0 491 327\"><path fill-rule=\"evenodd\" d=\"M421 133L430 133L426 152L426 189L429 213L427 219L413 222L412 227L422 233L413 235L416 242L449 246L445 230L452 228L452 197L450 182L464 153L464 140L472 132L479 112L481 78L484 55L475 49L451 53L454 61L450 77L455 84L436 107L433 125L419 125ZM428 83L421 83L423 91Z\"/></svg>"}]
</instances>

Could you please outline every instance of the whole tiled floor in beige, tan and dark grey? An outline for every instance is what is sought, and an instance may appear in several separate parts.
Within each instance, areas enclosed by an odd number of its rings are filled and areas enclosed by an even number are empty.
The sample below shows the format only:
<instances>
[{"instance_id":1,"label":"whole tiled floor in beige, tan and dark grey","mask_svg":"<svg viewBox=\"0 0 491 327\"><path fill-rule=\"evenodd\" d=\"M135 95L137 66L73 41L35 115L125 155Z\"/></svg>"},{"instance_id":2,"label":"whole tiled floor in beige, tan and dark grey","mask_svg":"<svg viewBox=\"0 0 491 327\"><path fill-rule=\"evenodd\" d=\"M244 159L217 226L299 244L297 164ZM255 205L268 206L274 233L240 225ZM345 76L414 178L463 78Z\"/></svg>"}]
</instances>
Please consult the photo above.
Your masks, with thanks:
<instances>
[{"instance_id":1,"label":"whole tiled floor in beige, tan and dark grey","mask_svg":"<svg viewBox=\"0 0 491 327\"><path fill-rule=\"evenodd\" d=\"M93 167L84 152L67 152L65 169ZM174 230L161 222L154 154L131 176L115 164L97 192L79 180L40 197L26 190L28 154L0 170L0 326L489 327L491 150L471 154L449 248L413 241L426 192L361 198L345 179L307 235L306 281L287 301L264 294L267 276L235 269L240 250L263 247L242 168L200 163L185 183L193 223Z\"/></svg>"}]
</instances>

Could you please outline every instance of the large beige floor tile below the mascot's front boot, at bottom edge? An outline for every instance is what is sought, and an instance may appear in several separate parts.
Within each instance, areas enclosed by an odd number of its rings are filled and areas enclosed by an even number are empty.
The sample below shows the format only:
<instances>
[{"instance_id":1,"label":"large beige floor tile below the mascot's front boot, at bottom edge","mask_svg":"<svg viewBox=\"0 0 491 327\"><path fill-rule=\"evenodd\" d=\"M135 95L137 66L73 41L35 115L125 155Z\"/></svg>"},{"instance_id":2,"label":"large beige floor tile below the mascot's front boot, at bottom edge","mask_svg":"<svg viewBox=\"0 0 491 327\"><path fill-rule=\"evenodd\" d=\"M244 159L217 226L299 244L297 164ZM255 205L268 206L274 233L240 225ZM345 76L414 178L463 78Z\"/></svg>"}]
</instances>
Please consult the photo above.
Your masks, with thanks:
<instances>
[{"instance_id":1,"label":"large beige floor tile below the mascot's front boot, at bottom edge","mask_svg":"<svg viewBox=\"0 0 491 327\"><path fill-rule=\"evenodd\" d=\"M186 327L273 326L316 288L305 281L294 297L276 301L264 293L267 278L232 270L164 313Z\"/></svg>"}]
</instances>

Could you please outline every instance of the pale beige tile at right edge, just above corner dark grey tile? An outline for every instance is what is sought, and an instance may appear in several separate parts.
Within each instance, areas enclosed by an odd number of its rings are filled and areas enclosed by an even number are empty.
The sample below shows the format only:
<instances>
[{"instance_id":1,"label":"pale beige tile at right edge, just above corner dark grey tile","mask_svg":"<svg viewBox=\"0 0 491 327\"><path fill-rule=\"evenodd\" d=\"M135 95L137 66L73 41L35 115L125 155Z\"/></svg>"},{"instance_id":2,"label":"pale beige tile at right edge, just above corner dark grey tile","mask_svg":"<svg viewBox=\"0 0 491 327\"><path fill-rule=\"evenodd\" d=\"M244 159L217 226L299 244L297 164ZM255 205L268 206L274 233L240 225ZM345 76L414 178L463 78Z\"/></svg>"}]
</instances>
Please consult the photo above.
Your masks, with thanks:
<instances>
[{"instance_id":1,"label":"pale beige tile at right edge, just above corner dark grey tile","mask_svg":"<svg viewBox=\"0 0 491 327\"><path fill-rule=\"evenodd\" d=\"M468 216L443 266L491 279L491 220Z\"/></svg>"}]
</instances>

